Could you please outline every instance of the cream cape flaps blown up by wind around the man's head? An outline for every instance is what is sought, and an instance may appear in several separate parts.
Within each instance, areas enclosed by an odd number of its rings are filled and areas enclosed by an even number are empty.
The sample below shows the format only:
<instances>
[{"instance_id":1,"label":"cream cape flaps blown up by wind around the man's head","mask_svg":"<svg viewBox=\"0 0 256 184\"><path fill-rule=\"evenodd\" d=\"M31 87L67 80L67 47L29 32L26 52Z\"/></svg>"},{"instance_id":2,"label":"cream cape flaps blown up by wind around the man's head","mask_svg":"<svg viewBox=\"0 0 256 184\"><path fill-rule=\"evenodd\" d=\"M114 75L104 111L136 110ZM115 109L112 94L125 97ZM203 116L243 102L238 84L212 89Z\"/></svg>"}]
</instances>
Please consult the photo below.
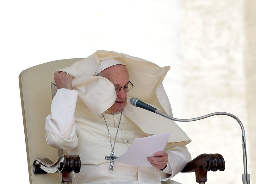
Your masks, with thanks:
<instances>
[{"instance_id":1,"label":"cream cape flaps blown up by wind around the man's head","mask_svg":"<svg viewBox=\"0 0 256 184\"><path fill-rule=\"evenodd\" d=\"M73 89L78 91L78 95L88 109L94 115L101 117L101 114L116 100L114 85L104 77L95 76L100 67L100 61L106 59L118 59L126 66L130 81L134 84L129 96L156 105L160 110L172 116L171 105L162 85L170 67L162 68L147 60L123 53L96 51L70 67L57 71L67 72L74 78L72 81Z\"/></svg>"}]
</instances>

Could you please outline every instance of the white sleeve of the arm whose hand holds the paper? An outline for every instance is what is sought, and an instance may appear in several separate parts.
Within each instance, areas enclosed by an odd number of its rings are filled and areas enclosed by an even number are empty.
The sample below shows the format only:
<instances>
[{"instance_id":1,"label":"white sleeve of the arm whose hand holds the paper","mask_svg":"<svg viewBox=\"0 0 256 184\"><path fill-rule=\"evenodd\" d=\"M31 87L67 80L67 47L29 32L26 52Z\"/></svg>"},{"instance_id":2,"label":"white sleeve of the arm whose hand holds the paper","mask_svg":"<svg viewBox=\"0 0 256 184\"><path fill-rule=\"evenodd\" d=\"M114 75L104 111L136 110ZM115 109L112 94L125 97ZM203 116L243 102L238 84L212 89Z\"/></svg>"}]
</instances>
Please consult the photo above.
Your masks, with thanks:
<instances>
[{"instance_id":1,"label":"white sleeve of the arm whose hand holds the paper","mask_svg":"<svg viewBox=\"0 0 256 184\"><path fill-rule=\"evenodd\" d=\"M184 142L167 143L166 150L168 163L164 170L156 169L157 177L160 181L166 181L178 174L189 161L191 154Z\"/></svg>"}]
</instances>

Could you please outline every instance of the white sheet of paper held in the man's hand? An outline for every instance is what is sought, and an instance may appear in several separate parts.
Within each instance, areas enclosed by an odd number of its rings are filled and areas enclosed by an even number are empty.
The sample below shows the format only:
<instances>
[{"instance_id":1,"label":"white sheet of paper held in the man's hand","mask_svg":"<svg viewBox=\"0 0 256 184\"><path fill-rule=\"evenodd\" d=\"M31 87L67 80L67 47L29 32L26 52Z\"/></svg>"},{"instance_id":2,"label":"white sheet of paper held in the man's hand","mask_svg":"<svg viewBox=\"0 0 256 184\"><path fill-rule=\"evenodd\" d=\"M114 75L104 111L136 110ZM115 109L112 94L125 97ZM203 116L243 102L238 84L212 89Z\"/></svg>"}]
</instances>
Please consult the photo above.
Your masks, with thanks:
<instances>
[{"instance_id":1,"label":"white sheet of paper held in the man's hand","mask_svg":"<svg viewBox=\"0 0 256 184\"><path fill-rule=\"evenodd\" d=\"M132 166L152 167L147 158L154 156L155 152L164 151L170 134L171 132L167 132L144 138L136 138L129 150L113 161Z\"/></svg>"}]
</instances>

